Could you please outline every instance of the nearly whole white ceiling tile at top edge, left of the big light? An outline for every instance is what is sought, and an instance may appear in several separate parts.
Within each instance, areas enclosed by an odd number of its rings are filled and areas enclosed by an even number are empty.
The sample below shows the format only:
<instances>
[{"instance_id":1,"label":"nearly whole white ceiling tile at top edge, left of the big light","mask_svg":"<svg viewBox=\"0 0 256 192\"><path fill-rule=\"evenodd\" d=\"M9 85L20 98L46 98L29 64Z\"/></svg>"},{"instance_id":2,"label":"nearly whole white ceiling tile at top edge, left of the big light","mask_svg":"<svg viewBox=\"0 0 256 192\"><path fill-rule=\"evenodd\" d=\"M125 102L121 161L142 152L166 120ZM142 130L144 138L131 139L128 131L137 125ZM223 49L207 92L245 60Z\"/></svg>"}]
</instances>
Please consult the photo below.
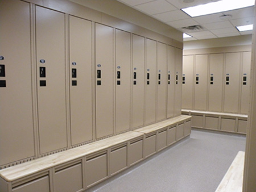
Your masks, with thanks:
<instances>
[{"instance_id":1,"label":"nearly whole white ceiling tile at top edge, left of the big light","mask_svg":"<svg viewBox=\"0 0 256 192\"><path fill-rule=\"evenodd\" d=\"M176 10L176 7L164 0L152 1L135 6L135 9L145 12L148 15L159 14L161 12Z\"/></svg>"}]
</instances>

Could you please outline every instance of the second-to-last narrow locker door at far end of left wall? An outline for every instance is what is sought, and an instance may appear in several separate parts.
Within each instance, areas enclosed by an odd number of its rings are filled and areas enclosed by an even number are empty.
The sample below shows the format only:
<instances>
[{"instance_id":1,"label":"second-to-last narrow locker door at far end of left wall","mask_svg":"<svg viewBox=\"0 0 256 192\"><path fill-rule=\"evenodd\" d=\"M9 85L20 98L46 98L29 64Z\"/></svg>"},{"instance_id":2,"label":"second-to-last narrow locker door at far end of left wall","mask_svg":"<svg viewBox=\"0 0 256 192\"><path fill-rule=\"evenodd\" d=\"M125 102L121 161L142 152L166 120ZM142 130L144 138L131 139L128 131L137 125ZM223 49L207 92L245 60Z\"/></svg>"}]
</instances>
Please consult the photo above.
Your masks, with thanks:
<instances>
[{"instance_id":1,"label":"second-to-last narrow locker door at far end of left wall","mask_svg":"<svg viewBox=\"0 0 256 192\"><path fill-rule=\"evenodd\" d=\"M174 116L175 48L168 47L167 118Z\"/></svg>"}]
</instances>

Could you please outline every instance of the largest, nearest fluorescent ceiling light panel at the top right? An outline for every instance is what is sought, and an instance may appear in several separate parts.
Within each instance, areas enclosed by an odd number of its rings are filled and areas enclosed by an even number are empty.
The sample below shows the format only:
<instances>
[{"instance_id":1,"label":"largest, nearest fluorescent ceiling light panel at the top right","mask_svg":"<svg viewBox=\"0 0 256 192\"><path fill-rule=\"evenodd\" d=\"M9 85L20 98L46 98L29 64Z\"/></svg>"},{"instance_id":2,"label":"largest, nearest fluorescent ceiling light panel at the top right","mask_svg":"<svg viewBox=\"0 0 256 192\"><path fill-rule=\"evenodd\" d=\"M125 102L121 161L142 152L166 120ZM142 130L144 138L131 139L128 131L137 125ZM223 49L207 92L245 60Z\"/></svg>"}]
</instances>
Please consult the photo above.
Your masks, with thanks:
<instances>
[{"instance_id":1,"label":"largest, nearest fluorescent ceiling light panel at the top right","mask_svg":"<svg viewBox=\"0 0 256 192\"><path fill-rule=\"evenodd\" d=\"M207 3L193 7L187 7L183 10L188 15L201 16L214 14L216 12L230 11L234 9L241 9L244 7L254 6L254 0L221 0L217 2Z\"/></svg>"}]
</instances>

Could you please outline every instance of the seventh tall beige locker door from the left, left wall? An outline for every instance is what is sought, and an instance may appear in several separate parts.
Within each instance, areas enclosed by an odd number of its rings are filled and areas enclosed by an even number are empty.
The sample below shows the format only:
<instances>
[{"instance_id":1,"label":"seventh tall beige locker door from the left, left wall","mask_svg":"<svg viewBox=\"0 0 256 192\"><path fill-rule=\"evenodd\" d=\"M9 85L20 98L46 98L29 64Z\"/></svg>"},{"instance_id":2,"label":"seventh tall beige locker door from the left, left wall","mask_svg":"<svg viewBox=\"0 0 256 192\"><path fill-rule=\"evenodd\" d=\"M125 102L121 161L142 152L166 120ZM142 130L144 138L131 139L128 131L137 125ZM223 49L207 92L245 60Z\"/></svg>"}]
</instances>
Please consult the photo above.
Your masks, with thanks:
<instances>
[{"instance_id":1,"label":"seventh tall beige locker door from the left, left wall","mask_svg":"<svg viewBox=\"0 0 256 192\"><path fill-rule=\"evenodd\" d=\"M146 108L145 124L155 122L156 112L156 41L146 41Z\"/></svg>"}]
</instances>

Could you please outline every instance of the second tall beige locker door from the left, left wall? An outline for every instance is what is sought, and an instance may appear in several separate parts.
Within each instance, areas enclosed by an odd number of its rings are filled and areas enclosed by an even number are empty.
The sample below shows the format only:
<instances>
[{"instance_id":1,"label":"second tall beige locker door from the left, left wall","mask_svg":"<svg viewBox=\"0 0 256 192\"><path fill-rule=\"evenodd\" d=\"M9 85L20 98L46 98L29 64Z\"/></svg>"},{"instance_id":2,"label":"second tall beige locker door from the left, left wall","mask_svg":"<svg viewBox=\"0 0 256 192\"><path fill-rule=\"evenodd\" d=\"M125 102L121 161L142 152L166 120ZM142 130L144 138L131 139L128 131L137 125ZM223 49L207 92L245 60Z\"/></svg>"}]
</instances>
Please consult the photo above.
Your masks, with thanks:
<instances>
[{"instance_id":1,"label":"second tall beige locker door from the left, left wall","mask_svg":"<svg viewBox=\"0 0 256 192\"><path fill-rule=\"evenodd\" d=\"M67 147L65 15L36 6L40 154Z\"/></svg>"}]
</instances>

